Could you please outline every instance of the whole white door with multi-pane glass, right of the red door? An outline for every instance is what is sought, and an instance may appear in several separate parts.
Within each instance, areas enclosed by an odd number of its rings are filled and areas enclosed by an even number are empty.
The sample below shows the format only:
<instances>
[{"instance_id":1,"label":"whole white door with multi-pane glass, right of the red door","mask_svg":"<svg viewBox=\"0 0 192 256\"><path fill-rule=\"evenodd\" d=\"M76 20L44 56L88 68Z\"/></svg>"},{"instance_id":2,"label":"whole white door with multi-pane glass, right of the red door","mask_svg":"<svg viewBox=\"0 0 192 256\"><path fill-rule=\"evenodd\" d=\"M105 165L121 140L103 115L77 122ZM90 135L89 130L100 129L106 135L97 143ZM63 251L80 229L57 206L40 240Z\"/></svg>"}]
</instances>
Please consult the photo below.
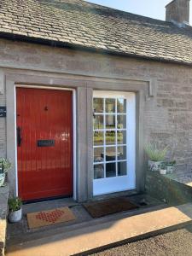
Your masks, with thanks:
<instances>
[{"instance_id":1,"label":"whole white door with multi-pane glass, right of the red door","mask_svg":"<svg viewBox=\"0 0 192 256\"><path fill-rule=\"evenodd\" d=\"M94 91L94 195L136 188L135 102L135 93Z\"/></svg>"}]
</instances>

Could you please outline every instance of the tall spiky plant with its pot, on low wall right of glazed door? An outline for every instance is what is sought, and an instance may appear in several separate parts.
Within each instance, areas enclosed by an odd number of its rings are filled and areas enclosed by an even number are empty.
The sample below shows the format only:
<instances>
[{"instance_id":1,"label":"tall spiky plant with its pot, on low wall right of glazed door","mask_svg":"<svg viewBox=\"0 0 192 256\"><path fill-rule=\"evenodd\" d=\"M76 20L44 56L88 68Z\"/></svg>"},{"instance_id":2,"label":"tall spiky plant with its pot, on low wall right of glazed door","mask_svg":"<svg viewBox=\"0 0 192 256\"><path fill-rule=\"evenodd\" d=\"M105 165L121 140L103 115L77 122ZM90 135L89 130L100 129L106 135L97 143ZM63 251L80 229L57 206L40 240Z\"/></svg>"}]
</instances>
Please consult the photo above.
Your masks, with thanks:
<instances>
[{"instance_id":1,"label":"tall spiky plant with its pot, on low wall right of glazed door","mask_svg":"<svg viewBox=\"0 0 192 256\"><path fill-rule=\"evenodd\" d=\"M156 144L149 143L145 146L145 153L148 155L148 168L152 172L159 172L160 165L166 158L167 147L160 149Z\"/></svg>"}]
</instances>

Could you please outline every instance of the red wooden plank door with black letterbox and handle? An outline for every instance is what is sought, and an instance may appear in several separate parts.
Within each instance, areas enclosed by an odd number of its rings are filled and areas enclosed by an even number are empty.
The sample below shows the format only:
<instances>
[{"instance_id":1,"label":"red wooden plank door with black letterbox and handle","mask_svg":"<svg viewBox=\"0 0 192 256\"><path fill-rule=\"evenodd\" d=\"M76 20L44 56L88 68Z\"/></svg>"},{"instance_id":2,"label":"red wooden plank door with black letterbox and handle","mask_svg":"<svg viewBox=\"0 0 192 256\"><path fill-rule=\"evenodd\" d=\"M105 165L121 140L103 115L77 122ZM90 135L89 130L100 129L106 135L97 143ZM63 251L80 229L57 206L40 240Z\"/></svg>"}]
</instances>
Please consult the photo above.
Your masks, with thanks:
<instances>
[{"instance_id":1,"label":"red wooden plank door with black letterbox and handle","mask_svg":"<svg viewBox=\"0 0 192 256\"><path fill-rule=\"evenodd\" d=\"M16 98L19 196L72 195L72 91L17 88Z\"/></svg>"}]
</instances>

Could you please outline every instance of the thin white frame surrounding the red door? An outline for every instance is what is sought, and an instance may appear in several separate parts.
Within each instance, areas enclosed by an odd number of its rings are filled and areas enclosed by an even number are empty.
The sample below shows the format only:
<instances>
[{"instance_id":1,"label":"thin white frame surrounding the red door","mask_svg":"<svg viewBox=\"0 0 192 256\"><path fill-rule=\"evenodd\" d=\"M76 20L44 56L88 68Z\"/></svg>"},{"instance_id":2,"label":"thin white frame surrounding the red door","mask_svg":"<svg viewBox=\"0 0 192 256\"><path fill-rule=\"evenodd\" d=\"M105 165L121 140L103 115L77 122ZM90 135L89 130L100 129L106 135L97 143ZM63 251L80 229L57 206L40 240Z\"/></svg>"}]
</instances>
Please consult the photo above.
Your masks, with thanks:
<instances>
[{"instance_id":1,"label":"thin white frame surrounding the red door","mask_svg":"<svg viewBox=\"0 0 192 256\"><path fill-rule=\"evenodd\" d=\"M77 200L77 168L76 168L76 90L67 87L50 87L50 86L41 86L41 85L23 85L15 84L15 188L16 196L19 195L19 185L18 185L18 168L17 168L17 136L16 136L16 90L17 88L28 88L28 89L44 89L44 90L70 90L73 92L73 200Z\"/></svg>"}]
</instances>

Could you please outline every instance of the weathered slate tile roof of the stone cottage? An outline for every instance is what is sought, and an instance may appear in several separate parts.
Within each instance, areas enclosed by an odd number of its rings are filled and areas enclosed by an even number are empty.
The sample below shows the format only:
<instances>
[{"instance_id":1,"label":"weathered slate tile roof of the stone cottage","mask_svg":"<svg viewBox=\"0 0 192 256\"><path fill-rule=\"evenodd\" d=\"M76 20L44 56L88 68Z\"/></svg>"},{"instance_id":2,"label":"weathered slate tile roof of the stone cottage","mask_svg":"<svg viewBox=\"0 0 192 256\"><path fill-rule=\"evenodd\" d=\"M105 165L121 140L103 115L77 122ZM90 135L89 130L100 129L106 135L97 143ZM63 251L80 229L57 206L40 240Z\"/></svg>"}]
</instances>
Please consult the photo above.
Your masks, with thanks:
<instances>
[{"instance_id":1,"label":"weathered slate tile roof of the stone cottage","mask_svg":"<svg viewBox=\"0 0 192 256\"><path fill-rule=\"evenodd\" d=\"M0 37L192 64L192 27L82 0L0 0Z\"/></svg>"}]
</instances>

